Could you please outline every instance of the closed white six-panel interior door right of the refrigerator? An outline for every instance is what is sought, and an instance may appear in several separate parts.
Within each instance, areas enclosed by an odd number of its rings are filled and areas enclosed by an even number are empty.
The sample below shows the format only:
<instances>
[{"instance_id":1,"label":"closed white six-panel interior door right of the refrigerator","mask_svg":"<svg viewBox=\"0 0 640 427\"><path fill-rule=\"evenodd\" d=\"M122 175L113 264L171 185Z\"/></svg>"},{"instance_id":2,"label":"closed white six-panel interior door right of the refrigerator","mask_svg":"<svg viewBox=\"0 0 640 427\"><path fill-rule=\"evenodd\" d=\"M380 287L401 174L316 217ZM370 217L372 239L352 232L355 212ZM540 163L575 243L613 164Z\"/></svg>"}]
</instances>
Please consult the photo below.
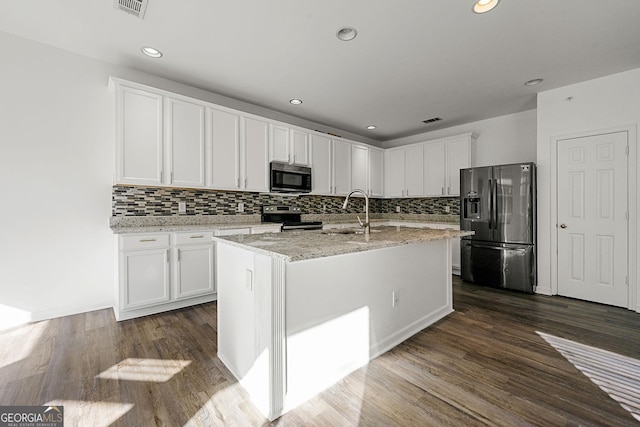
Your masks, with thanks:
<instances>
[{"instance_id":1,"label":"closed white six-panel interior door right of the refrigerator","mask_svg":"<svg viewBox=\"0 0 640 427\"><path fill-rule=\"evenodd\" d=\"M558 293L628 307L628 134L558 141Z\"/></svg>"}]
</instances>

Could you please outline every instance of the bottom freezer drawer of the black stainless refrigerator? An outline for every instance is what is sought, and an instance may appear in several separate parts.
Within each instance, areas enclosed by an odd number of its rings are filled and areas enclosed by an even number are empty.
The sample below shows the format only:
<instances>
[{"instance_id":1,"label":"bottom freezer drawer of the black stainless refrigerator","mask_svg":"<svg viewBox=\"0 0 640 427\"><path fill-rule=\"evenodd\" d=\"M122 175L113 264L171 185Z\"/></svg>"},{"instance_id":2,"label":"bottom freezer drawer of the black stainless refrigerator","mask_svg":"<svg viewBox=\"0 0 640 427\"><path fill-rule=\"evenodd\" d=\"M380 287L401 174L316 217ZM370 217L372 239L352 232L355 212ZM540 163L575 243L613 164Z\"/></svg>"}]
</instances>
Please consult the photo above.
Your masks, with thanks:
<instances>
[{"instance_id":1,"label":"bottom freezer drawer of the black stainless refrigerator","mask_svg":"<svg viewBox=\"0 0 640 427\"><path fill-rule=\"evenodd\" d=\"M536 257L533 245L460 242L462 279L467 282L533 293Z\"/></svg>"}]
</instances>

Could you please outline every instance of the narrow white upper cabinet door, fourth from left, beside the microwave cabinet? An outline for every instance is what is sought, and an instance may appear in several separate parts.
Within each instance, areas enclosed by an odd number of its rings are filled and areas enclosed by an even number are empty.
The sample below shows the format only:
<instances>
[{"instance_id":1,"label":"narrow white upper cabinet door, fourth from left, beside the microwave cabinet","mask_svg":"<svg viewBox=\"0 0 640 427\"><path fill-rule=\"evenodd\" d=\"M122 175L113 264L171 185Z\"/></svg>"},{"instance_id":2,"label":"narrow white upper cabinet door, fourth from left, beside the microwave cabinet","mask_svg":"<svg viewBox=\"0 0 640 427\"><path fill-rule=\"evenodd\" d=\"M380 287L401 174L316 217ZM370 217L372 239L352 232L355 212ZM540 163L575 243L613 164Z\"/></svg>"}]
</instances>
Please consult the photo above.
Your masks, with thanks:
<instances>
[{"instance_id":1,"label":"narrow white upper cabinet door, fourth from left, beside the microwave cabinet","mask_svg":"<svg viewBox=\"0 0 640 427\"><path fill-rule=\"evenodd\" d=\"M244 143L241 187L248 191L269 191L269 124L242 118Z\"/></svg>"}]
</instances>

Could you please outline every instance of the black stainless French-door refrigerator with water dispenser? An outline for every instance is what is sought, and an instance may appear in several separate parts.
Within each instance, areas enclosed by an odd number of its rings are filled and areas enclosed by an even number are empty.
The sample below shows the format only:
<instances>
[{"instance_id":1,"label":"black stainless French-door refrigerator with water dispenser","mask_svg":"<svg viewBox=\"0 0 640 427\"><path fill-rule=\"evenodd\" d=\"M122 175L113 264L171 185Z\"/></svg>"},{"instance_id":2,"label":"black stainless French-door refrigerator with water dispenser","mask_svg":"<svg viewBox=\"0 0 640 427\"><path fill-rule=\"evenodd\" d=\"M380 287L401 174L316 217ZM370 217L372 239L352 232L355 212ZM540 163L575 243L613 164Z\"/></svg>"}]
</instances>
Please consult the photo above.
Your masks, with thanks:
<instances>
[{"instance_id":1,"label":"black stainless French-door refrigerator with water dispenser","mask_svg":"<svg viewBox=\"0 0 640 427\"><path fill-rule=\"evenodd\" d=\"M536 165L460 170L462 279L532 293L536 275Z\"/></svg>"}]
</instances>

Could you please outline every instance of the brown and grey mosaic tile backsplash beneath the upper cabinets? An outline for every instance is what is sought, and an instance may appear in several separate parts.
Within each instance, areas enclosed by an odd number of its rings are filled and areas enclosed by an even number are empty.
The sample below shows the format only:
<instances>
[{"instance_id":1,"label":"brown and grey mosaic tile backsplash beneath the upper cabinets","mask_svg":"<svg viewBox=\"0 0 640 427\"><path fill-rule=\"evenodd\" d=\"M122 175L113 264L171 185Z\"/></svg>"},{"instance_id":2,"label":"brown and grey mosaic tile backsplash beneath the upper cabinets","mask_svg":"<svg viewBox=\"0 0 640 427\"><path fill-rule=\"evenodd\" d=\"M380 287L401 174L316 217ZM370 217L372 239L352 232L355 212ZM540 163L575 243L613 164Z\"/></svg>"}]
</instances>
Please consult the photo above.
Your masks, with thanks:
<instances>
[{"instance_id":1,"label":"brown and grey mosaic tile backsplash beneath the upper cabinets","mask_svg":"<svg viewBox=\"0 0 640 427\"><path fill-rule=\"evenodd\" d=\"M178 202L186 202L187 211L182 215L254 215L262 213L263 205L296 205L308 214L343 214L364 211L364 199L350 199L347 210L342 210L344 197L338 196L286 196L244 191L219 191L163 187L113 187L111 192L112 215L172 216L179 215ZM237 212L238 203L244 203L244 212ZM404 214L459 215L457 197L421 197L412 199L370 199L370 213L395 213L400 206ZM447 212L446 208L450 211Z\"/></svg>"}]
</instances>

